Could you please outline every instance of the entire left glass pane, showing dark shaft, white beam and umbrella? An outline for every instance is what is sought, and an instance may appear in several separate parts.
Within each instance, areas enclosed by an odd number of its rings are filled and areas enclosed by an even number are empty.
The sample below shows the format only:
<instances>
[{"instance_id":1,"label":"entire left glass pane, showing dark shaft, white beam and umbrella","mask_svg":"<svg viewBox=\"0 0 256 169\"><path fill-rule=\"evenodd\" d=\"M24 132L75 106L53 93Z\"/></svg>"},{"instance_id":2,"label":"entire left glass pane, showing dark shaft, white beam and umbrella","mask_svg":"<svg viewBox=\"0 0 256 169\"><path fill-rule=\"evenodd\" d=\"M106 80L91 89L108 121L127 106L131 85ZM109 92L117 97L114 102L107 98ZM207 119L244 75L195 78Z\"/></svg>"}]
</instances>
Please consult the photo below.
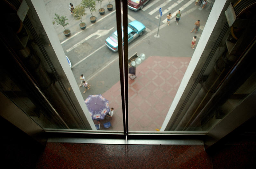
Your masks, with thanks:
<instances>
[{"instance_id":1,"label":"entire left glass pane, showing dark shaft, white beam and umbrella","mask_svg":"<svg viewBox=\"0 0 256 169\"><path fill-rule=\"evenodd\" d=\"M1 91L44 129L123 131L118 53L105 45L116 31L115 6L91 2L74 0L70 11L67 1L28 1L23 24L6 23L14 31L10 42L4 39L13 55L1 71L8 72ZM6 6L15 13L20 4Z\"/></svg>"}]
</instances>

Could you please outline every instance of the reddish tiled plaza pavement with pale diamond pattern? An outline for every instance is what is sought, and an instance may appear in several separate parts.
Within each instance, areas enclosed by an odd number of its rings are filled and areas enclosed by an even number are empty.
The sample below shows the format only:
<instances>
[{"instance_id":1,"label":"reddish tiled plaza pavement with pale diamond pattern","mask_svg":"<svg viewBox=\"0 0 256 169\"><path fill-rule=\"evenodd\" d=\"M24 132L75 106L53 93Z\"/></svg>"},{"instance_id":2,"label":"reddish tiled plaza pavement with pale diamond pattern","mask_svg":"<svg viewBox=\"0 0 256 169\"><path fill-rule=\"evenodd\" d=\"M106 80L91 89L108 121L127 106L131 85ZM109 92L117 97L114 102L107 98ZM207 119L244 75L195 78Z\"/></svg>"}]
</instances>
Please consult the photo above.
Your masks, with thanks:
<instances>
[{"instance_id":1,"label":"reddish tiled plaza pavement with pale diamond pattern","mask_svg":"<svg viewBox=\"0 0 256 169\"><path fill-rule=\"evenodd\" d=\"M137 66L137 78L129 79L129 131L160 129L190 59L191 57L151 56ZM123 130L120 81L102 96L114 108L114 115L110 120L113 128L109 130ZM104 130L102 123L106 121L108 120L101 122L101 130Z\"/></svg>"}]
</instances>

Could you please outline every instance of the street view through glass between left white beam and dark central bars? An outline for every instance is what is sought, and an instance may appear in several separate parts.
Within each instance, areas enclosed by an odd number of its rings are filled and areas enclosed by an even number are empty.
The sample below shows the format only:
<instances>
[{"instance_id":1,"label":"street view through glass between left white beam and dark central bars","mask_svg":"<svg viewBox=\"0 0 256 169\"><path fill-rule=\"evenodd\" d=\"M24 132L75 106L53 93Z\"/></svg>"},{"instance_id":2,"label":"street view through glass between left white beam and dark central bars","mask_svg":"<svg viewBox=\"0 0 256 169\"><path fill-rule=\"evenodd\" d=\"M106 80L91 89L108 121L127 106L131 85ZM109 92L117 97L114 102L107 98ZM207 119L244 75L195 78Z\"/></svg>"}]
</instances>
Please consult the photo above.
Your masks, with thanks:
<instances>
[{"instance_id":1,"label":"street view through glass between left white beam and dark central bars","mask_svg":"<svg viewBox=\"0 0 256 169\"><path fill-rule=\"evenodd\" d=\"M45 5L52 21L56 22L55 13L68 19L66 29L71 31L68 38L62 26L54 24L54 27L93 123L100 126L99 130L123 131L115 3L96 1L96 11L90 12L89 8L82 7L86 2L73 1L72 12L69 4L62 1L45 1ZM67 10L57 10L59 6ZM82 19L81 9L87 13ZM81 30L81 23L86 24L85 30ZM107 128L109 122L111 127Z\"/></svg>"}]
</instances>

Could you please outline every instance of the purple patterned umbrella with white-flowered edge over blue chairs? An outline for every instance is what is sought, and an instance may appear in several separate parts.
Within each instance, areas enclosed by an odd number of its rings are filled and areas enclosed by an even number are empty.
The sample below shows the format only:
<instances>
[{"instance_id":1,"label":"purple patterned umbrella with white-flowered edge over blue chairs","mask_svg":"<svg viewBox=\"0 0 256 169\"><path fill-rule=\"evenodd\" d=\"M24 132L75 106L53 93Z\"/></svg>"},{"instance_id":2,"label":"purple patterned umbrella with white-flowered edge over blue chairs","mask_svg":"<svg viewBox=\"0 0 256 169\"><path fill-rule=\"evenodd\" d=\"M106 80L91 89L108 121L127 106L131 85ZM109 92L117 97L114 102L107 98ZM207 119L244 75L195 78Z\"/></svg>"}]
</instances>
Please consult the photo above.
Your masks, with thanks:
<instances>
[{"instance_id":1,"label":"purple patterned umbrella with white-flowered edge over blue chairs","mask_svg":"<svg viewBox=\"0 0 256 169\"><path fill-rule=\"evenodd\" d=\"M85 100L85 104L93 120L103 120L110 111L108 100L101 95L89 95Z\"/></svg>"}]
</instances>

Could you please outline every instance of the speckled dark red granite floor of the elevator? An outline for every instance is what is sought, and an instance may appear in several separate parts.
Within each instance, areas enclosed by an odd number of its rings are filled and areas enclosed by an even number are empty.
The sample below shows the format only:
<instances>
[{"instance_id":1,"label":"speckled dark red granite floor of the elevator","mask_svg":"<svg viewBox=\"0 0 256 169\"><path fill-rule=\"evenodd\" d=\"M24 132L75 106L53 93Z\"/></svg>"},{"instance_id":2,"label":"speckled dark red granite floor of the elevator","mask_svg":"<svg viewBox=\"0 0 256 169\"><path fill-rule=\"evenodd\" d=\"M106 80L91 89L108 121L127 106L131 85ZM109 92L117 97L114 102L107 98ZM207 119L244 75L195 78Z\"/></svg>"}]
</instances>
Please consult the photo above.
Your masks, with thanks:
<instances>
[{"instance_id":1,"label":"speckled dark red granite floor of the elevator","mask_svg":"<svg viewBox=\"0 0 256 169\"><path fill-rule=\"evenodd\" d=\"M37 169L211 169L204 145L109 145L48 142Z\"/></svg>"}]
</instances>

